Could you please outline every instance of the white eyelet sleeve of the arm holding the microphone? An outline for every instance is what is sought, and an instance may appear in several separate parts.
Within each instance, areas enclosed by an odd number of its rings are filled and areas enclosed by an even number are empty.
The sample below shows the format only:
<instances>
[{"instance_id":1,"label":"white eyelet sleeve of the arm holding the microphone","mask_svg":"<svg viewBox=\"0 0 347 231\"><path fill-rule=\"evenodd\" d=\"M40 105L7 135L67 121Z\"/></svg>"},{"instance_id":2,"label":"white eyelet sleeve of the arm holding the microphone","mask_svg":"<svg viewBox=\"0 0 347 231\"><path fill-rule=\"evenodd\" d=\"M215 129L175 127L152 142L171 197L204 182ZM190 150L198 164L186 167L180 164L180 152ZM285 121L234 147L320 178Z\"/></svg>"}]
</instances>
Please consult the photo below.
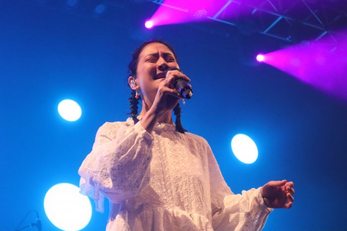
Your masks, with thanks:
<instances>
[{"instance_id":1,"label":"white eyelet sleeve of the arm holding the microphone","mask_svg":"<svg viewBox=\"0 0 347 231\"><path fill-rule=\"evenodd\" d=\"M153 136L140 122L105 123L96 134L92 151L78 170L80 192L94 199L104 212L105 196L113 203L136 196L149 184Z\"/></svg>"}]
</instances>

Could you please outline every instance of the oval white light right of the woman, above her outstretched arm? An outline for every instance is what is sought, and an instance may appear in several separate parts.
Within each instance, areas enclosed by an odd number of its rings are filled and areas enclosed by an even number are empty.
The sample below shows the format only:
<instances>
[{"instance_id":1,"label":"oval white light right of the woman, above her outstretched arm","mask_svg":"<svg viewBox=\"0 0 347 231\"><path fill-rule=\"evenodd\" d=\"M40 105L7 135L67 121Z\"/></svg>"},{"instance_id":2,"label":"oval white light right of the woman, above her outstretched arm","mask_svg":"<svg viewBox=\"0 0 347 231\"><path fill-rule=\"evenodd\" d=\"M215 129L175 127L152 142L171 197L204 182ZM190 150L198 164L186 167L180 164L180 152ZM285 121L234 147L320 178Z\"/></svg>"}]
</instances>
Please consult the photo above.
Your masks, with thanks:
<instances>
[{"instance_id":1,"label":"oval white light right of the woman, above her outstretched arm","mask_svg":"<svg viewBox=\"0 0 347 231\"><path fill-rule=\"evenodd\" d=\"M231 150L236 158L245 164L254 163L258 158L257 145L243 134L237 134L231 139Z\"/></svg>"}]
</instances>

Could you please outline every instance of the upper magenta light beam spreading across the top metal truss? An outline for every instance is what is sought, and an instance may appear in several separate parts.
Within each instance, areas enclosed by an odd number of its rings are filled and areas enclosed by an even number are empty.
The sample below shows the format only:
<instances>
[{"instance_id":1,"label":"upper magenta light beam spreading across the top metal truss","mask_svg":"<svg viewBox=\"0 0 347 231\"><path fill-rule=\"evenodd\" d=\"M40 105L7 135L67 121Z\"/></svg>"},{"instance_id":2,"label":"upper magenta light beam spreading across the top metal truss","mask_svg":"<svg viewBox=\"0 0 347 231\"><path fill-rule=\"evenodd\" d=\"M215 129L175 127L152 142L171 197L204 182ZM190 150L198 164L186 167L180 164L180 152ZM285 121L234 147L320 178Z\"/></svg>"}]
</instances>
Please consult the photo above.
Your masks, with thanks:
<instances>
[{"instance_id":1,"label":"upper magenta light beam spreading across the top metal truss","mask_svg":"<svg viewBox=\"0 0 347 231\"><path fill-rule=\"evenodd\" d=\"M295 8L296 12L308 10L301 0L292 0L292 2L298 6ZM236 23L234 20L249 19L255 12L254 7L261 11L274 11L272 4L263 4L261 0L164 0L150 20L154 26L211 21L211 19L234 24ZM276 18L274 15L271 16L271 19ZM257 17L255 16L254 20Z\"/></svg>"}]
</instances>

